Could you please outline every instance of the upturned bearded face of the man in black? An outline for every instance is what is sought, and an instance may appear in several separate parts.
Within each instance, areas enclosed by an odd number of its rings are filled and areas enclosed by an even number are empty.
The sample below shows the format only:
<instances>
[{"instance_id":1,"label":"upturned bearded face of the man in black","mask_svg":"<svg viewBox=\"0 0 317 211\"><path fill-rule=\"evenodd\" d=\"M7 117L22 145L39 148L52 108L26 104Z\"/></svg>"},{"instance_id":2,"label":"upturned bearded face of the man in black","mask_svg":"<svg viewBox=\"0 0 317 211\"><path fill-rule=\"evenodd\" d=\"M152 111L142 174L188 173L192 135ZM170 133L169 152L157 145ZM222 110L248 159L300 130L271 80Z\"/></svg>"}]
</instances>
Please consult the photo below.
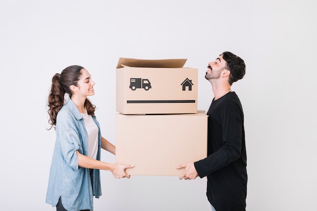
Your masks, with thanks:
<instances>
[{"instance_id":1,"label":"upturned bearded face of the man in black","mask_svg":"<svg viewBox=\"0 0 317 211\"><path fill-rule=\"evenodd\" d=\"M215 61L209 62L205 78L207 80L220 78L222 70L226 69L226 61L220 55Z\"/></svg>"}]
</instances>

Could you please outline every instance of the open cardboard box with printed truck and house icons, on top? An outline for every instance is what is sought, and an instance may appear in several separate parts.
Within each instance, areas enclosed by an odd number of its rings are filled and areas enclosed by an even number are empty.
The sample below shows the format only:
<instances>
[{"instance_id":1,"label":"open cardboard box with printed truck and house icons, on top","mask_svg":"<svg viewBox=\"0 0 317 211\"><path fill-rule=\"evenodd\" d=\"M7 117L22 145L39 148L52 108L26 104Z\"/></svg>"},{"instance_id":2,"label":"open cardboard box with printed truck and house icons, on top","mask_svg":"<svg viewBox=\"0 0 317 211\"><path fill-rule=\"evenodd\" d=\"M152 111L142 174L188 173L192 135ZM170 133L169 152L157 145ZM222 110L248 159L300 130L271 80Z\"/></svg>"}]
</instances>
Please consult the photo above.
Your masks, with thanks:
<instances>
[{"instance_id":1,"label":"open cardboard box with printed truck and house icons, on top","mask_svg":"<svg viewBox=\"0 0 317 211\"><path fill-rule=\"evenodd\" d=\"M116 110L122 114L197 113L198 69L187 59L120 58Z\"/></svg>"}]
</instances>

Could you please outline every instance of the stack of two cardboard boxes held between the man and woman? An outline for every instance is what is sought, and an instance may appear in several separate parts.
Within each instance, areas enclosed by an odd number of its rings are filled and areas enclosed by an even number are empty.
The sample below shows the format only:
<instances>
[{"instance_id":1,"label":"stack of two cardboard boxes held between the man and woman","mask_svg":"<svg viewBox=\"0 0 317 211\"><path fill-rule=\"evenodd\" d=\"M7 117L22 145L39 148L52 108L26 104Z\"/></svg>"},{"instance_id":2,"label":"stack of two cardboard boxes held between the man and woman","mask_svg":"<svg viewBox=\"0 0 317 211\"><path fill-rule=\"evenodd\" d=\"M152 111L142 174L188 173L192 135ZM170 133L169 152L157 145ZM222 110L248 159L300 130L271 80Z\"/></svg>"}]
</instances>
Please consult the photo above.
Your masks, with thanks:
<instances>
[{"instance_id":1,"label":"stack of two cardboard boxes held between the man and woman","mask_svg":"<svg viewBox=\"0 0 317 211\"><path fill-rule=\"evenodd\" d=\"M207 156L207 115L197 111L197 69L186 59L120 58L116 67L116 163L130 175L179 176Z\"/></svg>"}]
</instances>

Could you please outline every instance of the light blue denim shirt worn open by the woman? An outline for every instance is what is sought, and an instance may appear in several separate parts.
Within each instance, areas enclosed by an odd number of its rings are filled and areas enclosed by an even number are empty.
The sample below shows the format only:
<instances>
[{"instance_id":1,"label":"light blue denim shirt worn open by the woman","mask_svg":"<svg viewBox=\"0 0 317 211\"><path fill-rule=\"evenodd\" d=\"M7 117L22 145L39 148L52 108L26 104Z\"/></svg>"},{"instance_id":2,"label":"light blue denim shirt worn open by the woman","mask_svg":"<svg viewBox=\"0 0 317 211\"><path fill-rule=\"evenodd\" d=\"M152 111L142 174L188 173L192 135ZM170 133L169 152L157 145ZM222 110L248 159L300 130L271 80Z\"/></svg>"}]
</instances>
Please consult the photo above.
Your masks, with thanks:
<instances>
[{"instance_id":1,"label":"light blue denim shirt worn open by the woman","mask_svg":"<svg viewBox=\"0 0 317 211\"><path fill-rule=\"evenodd\" d=\"M101 133L98 133L97 160L100 160ZM56 117L56 142L53 152L46 202L56 206L59 197L65 209L77 211L93 210L93 195L101 195L100 172L93 171L93 188L88 168L78 166L76 150L88 153L88 134L84 118L74 103L68 99ZM93 191L92 191L93 190Z\"/></svg>"}]
</instances>

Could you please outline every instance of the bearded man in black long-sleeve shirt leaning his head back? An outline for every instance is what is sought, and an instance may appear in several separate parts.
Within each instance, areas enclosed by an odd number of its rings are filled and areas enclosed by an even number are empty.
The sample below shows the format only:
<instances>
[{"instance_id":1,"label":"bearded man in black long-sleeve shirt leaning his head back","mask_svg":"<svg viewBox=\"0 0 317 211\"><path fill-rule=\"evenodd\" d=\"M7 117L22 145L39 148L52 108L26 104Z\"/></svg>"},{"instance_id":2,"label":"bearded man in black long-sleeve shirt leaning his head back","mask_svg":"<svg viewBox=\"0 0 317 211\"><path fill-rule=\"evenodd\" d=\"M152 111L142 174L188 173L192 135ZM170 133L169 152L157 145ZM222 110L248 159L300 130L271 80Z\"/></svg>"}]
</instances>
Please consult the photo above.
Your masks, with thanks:
<instances>
[{"instance_id":1,"label":"bearded man in black long-sleeve shirt leaning his head back","mask_svg":"<svg viewBox=\"0 0 317 211\"><path fill-rule=\"evenodd\" d=\"M214 99L208 115L208 157L183 163L179 179L207 176L207 198L212 210L246 210L247 154L241 102L231 91L233 82L246 73L244 61L223 52L208 63L205 78L211 82Z\"/></svg>"}]
</instances>

